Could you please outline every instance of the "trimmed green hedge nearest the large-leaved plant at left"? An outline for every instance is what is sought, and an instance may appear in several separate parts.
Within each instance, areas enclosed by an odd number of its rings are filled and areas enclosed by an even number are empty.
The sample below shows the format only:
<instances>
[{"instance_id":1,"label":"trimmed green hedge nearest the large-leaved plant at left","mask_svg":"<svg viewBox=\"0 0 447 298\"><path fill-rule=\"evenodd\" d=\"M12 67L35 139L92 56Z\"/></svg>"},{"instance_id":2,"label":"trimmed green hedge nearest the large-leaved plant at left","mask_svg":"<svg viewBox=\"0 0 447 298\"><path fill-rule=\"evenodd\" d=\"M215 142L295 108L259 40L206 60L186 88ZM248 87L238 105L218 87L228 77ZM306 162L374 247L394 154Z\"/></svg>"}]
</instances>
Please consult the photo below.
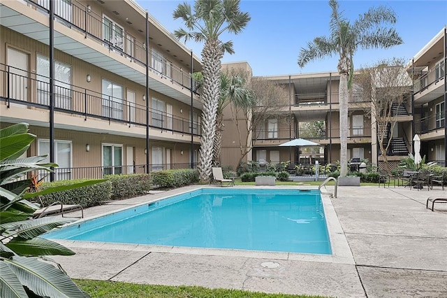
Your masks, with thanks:
<instances>
[{"instance_id":1,"label":"trimmed green hedge nearest the large-leaved plant at left","mask_svg":"<svg viewBox=\"0 0 447 298\"><path fill-rule=\"evenodd\" d=\"M39 190L45 190L47 187L81 183L83 181L87 181L87 179L45 182L42 183ZM60 201L62 204L80 204L82 207L87 208L100 205L101 202L110 200L111 195L112 183L110 183L110 181L105 181L103 183L75 188L73 190L66 190L64 192L44 194L41 195L41 200L44 206L49 206L55 201Z\"/></svg>"}]
</instances>

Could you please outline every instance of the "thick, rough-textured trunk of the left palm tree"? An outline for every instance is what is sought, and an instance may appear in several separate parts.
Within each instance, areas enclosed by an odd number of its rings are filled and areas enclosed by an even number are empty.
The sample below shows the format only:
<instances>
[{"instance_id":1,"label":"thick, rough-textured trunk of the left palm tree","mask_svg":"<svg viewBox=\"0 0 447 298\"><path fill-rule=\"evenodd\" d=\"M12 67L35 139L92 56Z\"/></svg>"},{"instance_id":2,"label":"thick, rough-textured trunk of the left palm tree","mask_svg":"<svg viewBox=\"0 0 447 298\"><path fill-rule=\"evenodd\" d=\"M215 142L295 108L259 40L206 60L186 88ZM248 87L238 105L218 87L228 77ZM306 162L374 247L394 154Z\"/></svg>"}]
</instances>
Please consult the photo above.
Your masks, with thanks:
<instances>
[{"instance_id":1,"label":"thick, rough-textured trunk of the left palm tree","mask_svg":"<svg viewBox=\"0 0 447 298\"><path fill-rule=\"evenodd\" d=\"M203 57L203 113L200 137L199 178L210 180L212 173L213 144L216 136L216 115L220 96L220 73L223 50L219 40L207 40Z\"/></svg>"}]
</instances>

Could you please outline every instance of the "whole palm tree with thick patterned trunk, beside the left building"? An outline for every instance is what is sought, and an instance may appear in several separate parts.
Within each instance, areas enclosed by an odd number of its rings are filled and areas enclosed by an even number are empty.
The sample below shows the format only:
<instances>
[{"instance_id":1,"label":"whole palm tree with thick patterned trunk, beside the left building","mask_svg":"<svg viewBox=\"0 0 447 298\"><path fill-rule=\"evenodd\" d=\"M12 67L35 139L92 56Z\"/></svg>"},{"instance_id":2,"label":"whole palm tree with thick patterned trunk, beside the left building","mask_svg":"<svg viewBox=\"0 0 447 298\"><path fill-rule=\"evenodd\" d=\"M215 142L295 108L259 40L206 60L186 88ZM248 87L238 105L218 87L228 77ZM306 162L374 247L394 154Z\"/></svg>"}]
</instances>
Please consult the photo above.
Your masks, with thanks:
<instances>
[{"instance_id":1,"label":"whole palm tree with thick patterned trunk, beside the left building","mask_svg":"<svg viewBox=\"0 0 447 298\"><path fill-rule=\"evenodd\" d=\"M233 42L223 43L219 38L223 32L238 34L250 20L248 13L242 13L240 0L196 0L194 9L189 3L177 6L174 19L182 19L186 28L174 31L177 38L204 42L203 59L203 113L200 136L200 157L198 171L200 180L210 179L213 143L216 134L216 115L219 106L219 79L221 59L224 52L233 54Z\"/></svg>"}]
</instances>

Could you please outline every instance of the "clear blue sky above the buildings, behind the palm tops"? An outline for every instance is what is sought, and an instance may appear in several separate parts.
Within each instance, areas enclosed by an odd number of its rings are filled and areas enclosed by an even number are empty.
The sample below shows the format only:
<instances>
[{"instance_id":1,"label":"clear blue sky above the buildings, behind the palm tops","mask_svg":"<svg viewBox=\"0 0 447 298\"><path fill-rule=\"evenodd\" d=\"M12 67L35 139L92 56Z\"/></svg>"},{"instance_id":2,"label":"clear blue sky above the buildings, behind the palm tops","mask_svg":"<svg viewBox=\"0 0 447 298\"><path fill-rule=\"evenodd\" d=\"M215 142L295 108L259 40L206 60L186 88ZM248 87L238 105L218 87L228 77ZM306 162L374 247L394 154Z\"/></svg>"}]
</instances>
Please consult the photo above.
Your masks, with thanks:
<instances>
[{"instance_id":1,"label":"clear blue sky above the buildings, behind the palm tops","mask_svg":"<svg viewBox=\"0 0 447 298\"><path fill-rule=\"evenodd\" d=\"M173 20L179 3L174 0L136 0L168 31L184 28L180 20ZM193 6L193 1L186 0ZM387 50L358 50L354 56L356 69L371 66L392 57L410 60L447 24L447 1L339 1L349 20L369 8L385 5L395 10L395 28L404 44ZM330 7L328 1L314 0L242 0L242 11L251 21L238 35L223 35L222 41L233 41L235 54L226 54L222 62L247 61L254 76L276 76L337 70L337 57L309 62L304 68L297 64L298 53L317 36L327 36ZM189 41L186 46L200 57L203 45Z\"/></svg>"}]
</instances>

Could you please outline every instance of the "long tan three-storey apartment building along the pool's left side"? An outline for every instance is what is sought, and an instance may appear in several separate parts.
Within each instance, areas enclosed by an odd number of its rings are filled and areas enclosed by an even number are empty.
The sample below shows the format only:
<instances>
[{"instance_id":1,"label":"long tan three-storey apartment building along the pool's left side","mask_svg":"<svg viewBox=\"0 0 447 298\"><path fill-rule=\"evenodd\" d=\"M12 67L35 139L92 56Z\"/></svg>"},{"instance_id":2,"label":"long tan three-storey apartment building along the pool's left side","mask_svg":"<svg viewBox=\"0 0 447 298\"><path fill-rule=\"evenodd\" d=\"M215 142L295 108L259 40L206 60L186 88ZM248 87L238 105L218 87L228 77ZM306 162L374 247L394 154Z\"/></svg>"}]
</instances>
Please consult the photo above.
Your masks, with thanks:
<instances>
[{"instance_id":1,"label":"long tan three-storey apartment building along the pool's left side","mask_svg":"<svg viewBox=\"0 0 447 298\"><path fill-rule=\"evenodd\" d=\"M2 0L0 42L1 127L54 180L195 166L200 59L135 1Z\"/></svg>"}]
</instances>

